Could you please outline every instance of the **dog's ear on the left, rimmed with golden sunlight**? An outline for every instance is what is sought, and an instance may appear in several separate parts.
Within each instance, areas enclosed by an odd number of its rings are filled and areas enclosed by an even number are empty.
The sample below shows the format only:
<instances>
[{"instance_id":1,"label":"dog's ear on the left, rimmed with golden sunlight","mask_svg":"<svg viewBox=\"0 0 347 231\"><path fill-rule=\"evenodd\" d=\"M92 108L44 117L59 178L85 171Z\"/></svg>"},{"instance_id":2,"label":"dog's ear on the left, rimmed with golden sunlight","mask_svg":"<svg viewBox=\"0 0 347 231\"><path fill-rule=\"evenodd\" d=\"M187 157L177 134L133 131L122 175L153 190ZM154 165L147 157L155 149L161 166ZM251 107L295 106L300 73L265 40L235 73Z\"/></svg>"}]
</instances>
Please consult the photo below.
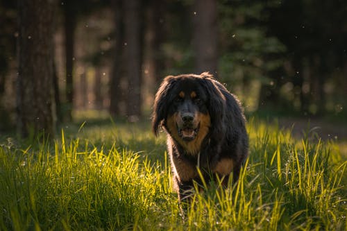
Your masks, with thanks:
<instances>
[{"instance_id":1,"label":"dog's ear on the left, rimmed with golden sunlight","mask_svg":"<svg viewBox=\"0 0 347 231\"><path fill-rule=\"evenodd\" d=\"M158 136L160 123L167 117L169 90L172 88L175 82L174 76L165 77L158 89L158 92L155 94L152 114L152 130L156 136Z\"/></svg>"}]
</instances>

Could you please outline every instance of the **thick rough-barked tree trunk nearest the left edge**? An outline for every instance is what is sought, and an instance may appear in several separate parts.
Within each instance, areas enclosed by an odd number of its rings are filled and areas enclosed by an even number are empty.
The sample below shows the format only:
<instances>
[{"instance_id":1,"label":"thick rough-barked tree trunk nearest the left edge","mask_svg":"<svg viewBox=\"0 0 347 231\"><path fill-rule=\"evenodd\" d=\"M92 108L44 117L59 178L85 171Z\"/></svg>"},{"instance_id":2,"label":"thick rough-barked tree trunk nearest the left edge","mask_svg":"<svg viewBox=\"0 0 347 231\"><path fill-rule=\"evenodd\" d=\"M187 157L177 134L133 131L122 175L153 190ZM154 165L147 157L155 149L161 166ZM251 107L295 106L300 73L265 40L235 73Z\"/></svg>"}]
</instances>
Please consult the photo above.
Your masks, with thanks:
<instances>
[{"instance_id":1,"label":"thick rough-barked tree trunk nearest the left edge","mask_svg":"<svg viewBox=\"0 0 347 231\"><path fill-rule=\"evenodd\" d=\"M54 135L53 19L56 1L19 0L17 132Z\"/></svg>"}]
</instances>

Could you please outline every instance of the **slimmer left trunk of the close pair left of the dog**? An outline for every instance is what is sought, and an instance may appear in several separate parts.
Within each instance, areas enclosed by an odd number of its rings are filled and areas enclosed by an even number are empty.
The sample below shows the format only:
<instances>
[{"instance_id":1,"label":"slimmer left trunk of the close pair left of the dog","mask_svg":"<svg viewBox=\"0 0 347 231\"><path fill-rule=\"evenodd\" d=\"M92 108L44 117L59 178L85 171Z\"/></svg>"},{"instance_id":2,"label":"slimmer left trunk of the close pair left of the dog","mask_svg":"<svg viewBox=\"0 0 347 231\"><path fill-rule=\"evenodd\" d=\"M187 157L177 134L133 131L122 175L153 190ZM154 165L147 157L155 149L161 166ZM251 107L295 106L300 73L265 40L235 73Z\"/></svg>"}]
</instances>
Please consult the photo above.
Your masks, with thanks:
<instances>
[{"instance_id":1,"label":"slimmer left trunk of the close pair left of the dog","mask_svg":"<svg viewBox=\"0 0 347 231\"><path fill-rule=\"evenodd\" d=\"M115 11L115 48L113 55L112 76L110 80L110 114L116 117L120 114L120 102L122 101L121 78L123 69L121 68L122 47L124 45L123 34L123 8L121 0L113 0L112 7Z\"/></svg>"}]
</instances>

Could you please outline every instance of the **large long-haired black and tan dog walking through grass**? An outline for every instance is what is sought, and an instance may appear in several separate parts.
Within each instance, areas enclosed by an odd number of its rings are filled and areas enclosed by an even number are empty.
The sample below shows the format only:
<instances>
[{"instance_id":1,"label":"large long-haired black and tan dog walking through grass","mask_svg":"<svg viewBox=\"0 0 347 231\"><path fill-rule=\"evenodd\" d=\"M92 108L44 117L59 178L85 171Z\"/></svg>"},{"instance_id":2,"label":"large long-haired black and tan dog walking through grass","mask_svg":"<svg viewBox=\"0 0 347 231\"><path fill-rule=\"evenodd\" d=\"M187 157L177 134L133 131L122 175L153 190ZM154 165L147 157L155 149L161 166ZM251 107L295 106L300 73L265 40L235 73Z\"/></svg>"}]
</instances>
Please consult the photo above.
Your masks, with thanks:
<instances>
[{"instance_id":1,"label":"large long-haired black and tan dog walking through grass","mask_svg":"<svg viewBox=\"0 0 347 231\"><path fill-rule=\"evenodd\" d=\"M248 136L241 105L207 72L167 76L155 95L153 132L167 132L167 148L179 199L190 195L193 181L230 173L236 181L248 155Z\"/></svg>"}]
</instances>

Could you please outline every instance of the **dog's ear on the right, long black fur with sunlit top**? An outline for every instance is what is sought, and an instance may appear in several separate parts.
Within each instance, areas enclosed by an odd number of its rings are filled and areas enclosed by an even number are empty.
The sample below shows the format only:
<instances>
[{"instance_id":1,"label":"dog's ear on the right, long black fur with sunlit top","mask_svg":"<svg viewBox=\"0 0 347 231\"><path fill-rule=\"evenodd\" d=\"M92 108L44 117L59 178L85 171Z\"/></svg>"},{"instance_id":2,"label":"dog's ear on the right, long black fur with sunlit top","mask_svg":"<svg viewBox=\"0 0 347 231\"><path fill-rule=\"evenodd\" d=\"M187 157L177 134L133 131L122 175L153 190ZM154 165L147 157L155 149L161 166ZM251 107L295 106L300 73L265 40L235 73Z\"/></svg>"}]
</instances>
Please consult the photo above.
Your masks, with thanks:
<instances>
[{"instance_id":1,"label":"dog's ear on the right, long black fur with sunlit top","mask_svg":"<svg viewBox=\"0 0 347 231\"><path fill-rule=\"evenodd\" d=\"M208 93L208 111L210 112L212 122L212 132L216 133L214 137L219 137L224 134L225 126L223 120L226 114L226 97L219 88L220 83L217 82L208 72L201 75L203 87Z\"/></svg>"}]
</instances>

